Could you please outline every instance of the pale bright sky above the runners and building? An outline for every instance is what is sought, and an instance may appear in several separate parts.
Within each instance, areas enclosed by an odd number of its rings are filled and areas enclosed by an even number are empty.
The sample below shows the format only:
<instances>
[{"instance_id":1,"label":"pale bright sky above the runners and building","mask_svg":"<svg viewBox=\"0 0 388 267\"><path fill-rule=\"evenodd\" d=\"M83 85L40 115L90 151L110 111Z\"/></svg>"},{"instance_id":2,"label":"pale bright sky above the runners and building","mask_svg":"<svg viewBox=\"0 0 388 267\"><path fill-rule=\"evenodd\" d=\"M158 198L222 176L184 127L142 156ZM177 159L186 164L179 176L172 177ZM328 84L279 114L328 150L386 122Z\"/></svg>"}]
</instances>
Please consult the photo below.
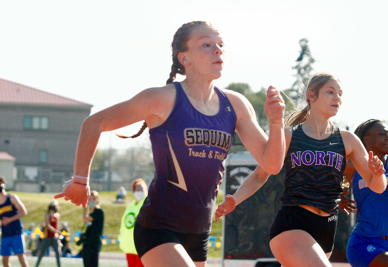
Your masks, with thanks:
<instances>
[{"instance_id":1,"label":"pale bright sky above the runners and building","mask_svg":"<svg viewBox=\"0 0 388 267\"><path fill-rule=\"evenodd\" d=\"M307 38L315 71L342 81L343 105L333 121L354 130L370 118L387 120L386 10L383 0L1 1L0 78L93 104L95 113L163 86L173 34L204 20L225 40L218 87L288 88L298 41ZM144 139L112 137L116 148L137 142Z\"/></svg>"}]
</instances>

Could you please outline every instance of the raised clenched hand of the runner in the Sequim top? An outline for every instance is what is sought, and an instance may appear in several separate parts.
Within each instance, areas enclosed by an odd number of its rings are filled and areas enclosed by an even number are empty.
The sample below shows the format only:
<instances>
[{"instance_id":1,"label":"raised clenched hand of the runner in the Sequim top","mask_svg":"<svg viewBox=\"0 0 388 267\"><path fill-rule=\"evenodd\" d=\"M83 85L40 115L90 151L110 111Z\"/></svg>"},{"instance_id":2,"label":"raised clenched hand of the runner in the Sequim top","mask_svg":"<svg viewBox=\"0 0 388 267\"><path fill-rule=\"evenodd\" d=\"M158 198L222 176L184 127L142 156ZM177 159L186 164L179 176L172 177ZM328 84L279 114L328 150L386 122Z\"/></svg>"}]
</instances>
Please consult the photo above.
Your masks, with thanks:
<instances>
[{"instance_id":1,"label":"raised clenched hand of the runner in the Sequim top","mask_svg":"<svg viewBox=\"0 0 388 267\"><path fill-rule=\"evenodd\" d=\"M267 90L267 99L264 102L265 115L270 123L282 123L286 105L276 87L270 86Z\"/></svg>"}]
</instances>

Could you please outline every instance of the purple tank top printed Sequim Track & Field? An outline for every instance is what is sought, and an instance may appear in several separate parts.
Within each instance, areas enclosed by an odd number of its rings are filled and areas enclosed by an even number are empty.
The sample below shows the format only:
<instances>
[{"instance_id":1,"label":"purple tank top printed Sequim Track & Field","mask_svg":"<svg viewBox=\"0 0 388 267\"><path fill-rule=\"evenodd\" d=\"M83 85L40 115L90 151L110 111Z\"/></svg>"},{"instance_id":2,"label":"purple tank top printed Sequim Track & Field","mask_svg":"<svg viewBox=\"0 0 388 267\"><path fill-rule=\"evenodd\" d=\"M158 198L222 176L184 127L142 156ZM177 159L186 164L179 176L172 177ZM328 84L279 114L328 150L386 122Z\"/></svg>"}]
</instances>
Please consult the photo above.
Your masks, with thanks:
<instances>
[{"instance_id":1,"label":"purple tank top printed Sequim Track & Field","mask_svg":"<svg viewBox=\"0 0 388 267\"><path fill-rule=\"evenodd\" d=\"M192 106L179 82L174 84L177 98L170 116L149 130L156 171L137 222L146 228L204 233L210 230L236 113L217 87L220 110L208 116Z\"/></svg>"}]
</instances>

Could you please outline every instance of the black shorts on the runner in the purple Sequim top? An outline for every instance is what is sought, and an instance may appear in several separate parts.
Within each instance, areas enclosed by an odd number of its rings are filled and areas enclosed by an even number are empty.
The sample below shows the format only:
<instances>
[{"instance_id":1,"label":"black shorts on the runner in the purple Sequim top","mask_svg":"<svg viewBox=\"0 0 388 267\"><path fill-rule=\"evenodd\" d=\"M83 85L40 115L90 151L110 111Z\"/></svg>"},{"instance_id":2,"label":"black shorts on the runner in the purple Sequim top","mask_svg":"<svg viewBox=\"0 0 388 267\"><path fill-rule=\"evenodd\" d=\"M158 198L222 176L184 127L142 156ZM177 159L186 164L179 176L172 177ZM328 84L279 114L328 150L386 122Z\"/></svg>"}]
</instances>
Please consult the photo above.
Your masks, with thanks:
<instances>
[{"instance_id":1,"label":"black shorts on the runner in the purple Sequim top","mask_svg":"<svg viewBox=\"0 0 388 267\"><path fill-rule=\"evenodd\" d=\"M203 262L208 256L210 231L201 234L184 234L167 229L151 229L135 222L133 239L139 258L152 248L165 243L181 244L194 262Z\"/></svg>"}]
</instances>

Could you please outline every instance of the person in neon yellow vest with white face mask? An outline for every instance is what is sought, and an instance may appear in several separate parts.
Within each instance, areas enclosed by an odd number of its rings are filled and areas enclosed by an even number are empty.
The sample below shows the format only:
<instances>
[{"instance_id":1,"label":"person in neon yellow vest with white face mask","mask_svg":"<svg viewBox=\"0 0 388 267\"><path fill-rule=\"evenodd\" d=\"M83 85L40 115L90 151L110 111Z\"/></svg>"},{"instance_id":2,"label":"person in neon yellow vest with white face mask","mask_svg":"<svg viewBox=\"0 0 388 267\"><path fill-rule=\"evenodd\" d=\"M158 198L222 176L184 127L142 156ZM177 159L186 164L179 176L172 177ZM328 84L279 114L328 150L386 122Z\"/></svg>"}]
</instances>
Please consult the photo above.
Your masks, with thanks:
<instances>
[{"instance_id":1,"label":"person in neon yellow vest with white face mask","mask_svg":"<svg viewBox=\"0 0 388 267\"><path fill-rule=\"evenodd\" d=\"M148 194L147 185L142 178L136 179L132 182L132 193L135 200L126 206L123 217L121 217L118 240L120 241L120 249L126 253L128 267L144 267L137 255L135 243L133 241L133 226L135 226L137 214L139 214L144 199Z\"/></svg>"}]
</instances>

